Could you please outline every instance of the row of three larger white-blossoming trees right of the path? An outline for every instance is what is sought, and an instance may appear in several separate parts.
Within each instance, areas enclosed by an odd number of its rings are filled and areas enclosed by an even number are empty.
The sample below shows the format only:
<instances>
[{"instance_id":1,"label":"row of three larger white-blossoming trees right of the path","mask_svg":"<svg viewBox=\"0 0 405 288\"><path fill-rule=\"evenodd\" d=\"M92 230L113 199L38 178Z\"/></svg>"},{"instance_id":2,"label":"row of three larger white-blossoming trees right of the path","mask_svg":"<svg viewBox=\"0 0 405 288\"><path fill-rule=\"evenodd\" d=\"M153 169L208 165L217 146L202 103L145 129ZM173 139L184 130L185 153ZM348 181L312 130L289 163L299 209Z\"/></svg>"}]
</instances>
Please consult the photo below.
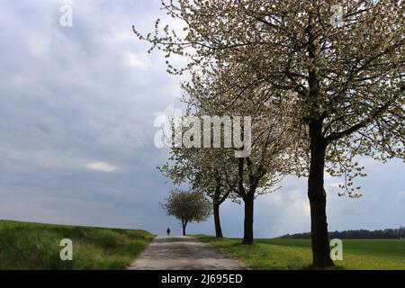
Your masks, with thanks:
<instances>
[{"instance_id":1,"label":"row of three larger white-blossoming trees right of the path","mask_svg":"<svg viewBox=\"0 0 405 288\"><path fill-rule=\"evenodd\" d=\"M277 189L284 175L306 176L318 267L333 266L325 172L344 178L342 194L358 197L354 179L365 173L357 156L405 154L405 5L339 3L336 25L332 0L163 1L183 31L160 29L159 20L147 35L134 28L151 50L163 50L170 73L190 76L190 114L252 117L248 157L232 148L172 148L162 171L211 197L219 237L220 203L244 202L244 244L253 243L257 195ZM175 67L177 56L188 64Z\"/></svg>"}]
</instances>

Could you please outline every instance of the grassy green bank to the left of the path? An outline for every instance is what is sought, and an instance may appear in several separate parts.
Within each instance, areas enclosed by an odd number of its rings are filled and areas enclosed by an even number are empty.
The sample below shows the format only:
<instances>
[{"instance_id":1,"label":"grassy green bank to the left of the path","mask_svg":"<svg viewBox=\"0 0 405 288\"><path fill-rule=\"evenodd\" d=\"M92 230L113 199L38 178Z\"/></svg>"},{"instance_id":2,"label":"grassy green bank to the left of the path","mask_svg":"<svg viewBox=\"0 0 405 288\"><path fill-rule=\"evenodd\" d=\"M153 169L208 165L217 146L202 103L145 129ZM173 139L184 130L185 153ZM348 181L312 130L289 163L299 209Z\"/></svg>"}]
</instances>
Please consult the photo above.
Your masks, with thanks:
<instances>
[{"instance_id":1,"label":"grassy green bank to the left of the path","mask_svg":"<svg viewBox=\"0 0 405 288\"><path fill-rule=\"evenodd\" d=\"M60 240L73 260L60 260ZM0 220L0 269L125 269L154 236L144 230Z\"/></svg>"}]
</instances>

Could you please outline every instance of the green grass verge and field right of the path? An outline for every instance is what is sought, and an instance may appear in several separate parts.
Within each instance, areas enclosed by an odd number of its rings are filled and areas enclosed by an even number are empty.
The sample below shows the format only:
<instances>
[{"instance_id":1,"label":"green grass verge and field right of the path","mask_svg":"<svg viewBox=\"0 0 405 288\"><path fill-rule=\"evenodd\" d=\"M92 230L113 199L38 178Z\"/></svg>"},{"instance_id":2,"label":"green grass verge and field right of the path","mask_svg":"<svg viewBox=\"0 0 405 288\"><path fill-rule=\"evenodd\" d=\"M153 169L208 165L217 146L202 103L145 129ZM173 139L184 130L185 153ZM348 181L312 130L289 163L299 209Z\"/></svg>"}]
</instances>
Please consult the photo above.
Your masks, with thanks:
<instances>
[{"instance_id":1,"label":"green grass verge and field right of the path","mask_svg":"<svg viewBox=\"0 0 405 288\"><path fill-rule=\"evenodd\" d=\"M240 239L198 235L254 269L311 269L310 239L257 239L252 246ZM335 269L405 270L405 240L343 240L343 261Z\"/></svg>"}]
</instances>

